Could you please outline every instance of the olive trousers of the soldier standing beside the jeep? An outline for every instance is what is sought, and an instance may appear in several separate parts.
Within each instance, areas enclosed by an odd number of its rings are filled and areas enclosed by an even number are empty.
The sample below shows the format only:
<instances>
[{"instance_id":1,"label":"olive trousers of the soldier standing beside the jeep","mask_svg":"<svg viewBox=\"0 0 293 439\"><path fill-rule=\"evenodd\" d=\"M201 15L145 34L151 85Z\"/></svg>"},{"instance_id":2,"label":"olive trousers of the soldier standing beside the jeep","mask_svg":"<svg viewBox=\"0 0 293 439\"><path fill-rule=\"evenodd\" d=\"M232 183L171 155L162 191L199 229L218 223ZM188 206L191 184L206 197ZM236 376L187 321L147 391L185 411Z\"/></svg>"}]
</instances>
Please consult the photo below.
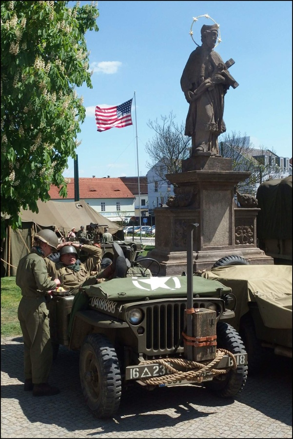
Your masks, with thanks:
<instances>
[{"instance_id":1,"label":"olive trousers of the soldier standing beside the jeep","mask_svg":"<svg viewBox=\"0 0 293 439\"><path fill-rule=\"evenodd\" d=\"M24 344L24 377L34 384L47 382L52 367L49 311L44 297L22 297L18 318Z\"/></svg>"}]
</instances>

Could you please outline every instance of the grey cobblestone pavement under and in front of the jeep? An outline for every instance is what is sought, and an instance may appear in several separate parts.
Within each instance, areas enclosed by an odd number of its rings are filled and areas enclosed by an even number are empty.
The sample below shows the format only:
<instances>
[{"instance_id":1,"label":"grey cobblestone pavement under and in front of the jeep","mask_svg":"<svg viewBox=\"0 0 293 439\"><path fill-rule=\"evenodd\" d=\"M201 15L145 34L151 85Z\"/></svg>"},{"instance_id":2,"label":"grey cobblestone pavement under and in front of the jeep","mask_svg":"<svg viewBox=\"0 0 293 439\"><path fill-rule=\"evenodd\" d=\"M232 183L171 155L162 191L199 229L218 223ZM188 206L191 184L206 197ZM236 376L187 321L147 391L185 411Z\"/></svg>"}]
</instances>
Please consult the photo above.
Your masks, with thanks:
<instances>
[{"instance_id":1,"label":"grey cobblestone pavement under and in front of the jeep","mask_svg":"<svg viewBox=\"0 0 293 439\"><path fill-rule=\"evenodd\" d=\"M116 419L97 419L79 382L78 352L61 346L50 382L60 394L23 391L22 338L1 339L1 438L292 438L292 360L274 357L233 400L194 385L122 397Z\"/></svg>"}]
</instances>

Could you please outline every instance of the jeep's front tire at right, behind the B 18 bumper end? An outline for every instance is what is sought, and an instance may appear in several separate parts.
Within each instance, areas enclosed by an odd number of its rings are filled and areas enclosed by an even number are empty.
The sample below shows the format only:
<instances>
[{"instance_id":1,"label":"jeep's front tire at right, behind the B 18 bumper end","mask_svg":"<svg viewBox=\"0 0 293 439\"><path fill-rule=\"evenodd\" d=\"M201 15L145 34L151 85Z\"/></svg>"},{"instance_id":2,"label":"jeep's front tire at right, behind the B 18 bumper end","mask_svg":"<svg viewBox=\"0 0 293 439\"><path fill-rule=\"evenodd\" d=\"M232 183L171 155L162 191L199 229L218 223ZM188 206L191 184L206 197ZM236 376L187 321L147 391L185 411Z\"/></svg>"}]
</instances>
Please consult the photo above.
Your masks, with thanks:
<instances>
[{"instance_id":1,"label":"jeep's front tire at right, behind the B 18 bumper end","mask_svg":"<svg viewBox=\"0 0 293 439\"><path fill-rule=\"evenodd\" d=\"M227 349L232 354L246 353L243 342L233 326L218 322L216 335L218 348ZM213 381L208 381L205 386L220 398L233 398L244 387L247 370L247 365L237 366L237 369L231 369L227 374L219 375Z\"/></svg>"}]
</instances>

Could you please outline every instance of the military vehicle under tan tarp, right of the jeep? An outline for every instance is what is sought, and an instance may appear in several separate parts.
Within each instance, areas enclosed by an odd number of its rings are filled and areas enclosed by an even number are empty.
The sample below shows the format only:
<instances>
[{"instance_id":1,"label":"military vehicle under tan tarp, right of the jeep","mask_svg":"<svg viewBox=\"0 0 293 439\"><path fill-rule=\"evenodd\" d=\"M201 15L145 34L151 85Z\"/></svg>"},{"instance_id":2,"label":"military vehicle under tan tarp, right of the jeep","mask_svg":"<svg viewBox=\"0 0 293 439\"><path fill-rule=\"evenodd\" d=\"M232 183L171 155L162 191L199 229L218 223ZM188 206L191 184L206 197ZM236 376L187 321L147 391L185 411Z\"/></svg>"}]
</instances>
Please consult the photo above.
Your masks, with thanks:
<instances>
[{"instance_id":1,"label":"military vehicle under tan tarp, right of the jeep","mask_svg":"<svg viewBox=\"0 0 293 439\"><path fill-rule=\"evenodd\" d=\"M229 256L200 275L232 288L229 323L244 342L250 373L261 372L272 353L292 358L292 265L248 265Z\"/></svg>"}]
</instances>

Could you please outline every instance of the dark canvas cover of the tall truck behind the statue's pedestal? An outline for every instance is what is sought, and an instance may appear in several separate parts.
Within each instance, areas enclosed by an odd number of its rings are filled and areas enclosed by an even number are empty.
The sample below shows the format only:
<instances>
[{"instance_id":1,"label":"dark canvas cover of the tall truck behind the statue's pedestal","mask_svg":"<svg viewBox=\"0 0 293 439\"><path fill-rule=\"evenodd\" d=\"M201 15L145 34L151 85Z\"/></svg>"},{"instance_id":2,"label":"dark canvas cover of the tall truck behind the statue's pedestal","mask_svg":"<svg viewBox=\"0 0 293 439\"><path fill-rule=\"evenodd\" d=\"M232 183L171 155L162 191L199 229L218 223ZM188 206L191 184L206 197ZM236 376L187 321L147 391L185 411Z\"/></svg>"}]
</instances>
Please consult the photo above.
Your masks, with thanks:
<instances>
[{"instance_id":1,"label":"dark canvas cover of the tall truck behind the statue's pedestal","mask_svg":"<svg viewBox=\"0 0 293 439\"><path fill-rule=\"evenodd\" d=\"M257 189L259 239L292 239L292 175L264 181Z\"/></svg>"}]
</instances>

